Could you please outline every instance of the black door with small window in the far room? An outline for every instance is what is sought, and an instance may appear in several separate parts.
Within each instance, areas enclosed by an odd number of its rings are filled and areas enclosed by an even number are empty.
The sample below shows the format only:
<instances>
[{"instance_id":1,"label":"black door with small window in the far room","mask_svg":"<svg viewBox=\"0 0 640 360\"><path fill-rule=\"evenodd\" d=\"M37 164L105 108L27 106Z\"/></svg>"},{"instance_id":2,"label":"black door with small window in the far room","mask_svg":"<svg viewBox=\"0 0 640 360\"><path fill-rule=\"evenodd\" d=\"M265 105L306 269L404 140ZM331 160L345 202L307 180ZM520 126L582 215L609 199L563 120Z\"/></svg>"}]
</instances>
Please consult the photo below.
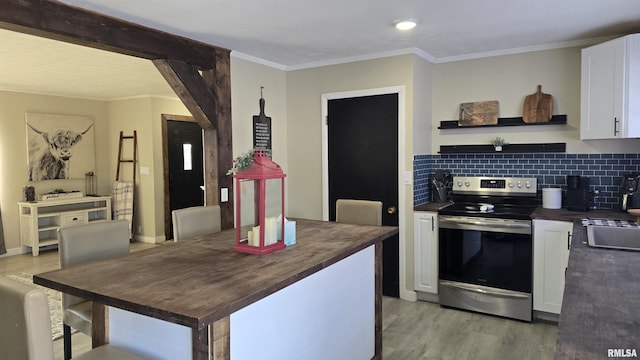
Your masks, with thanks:
<instances>
[{"instance_id":1,"label":"black door with small window in the far room","mask_svg":"<svg viewBox=\"0 0 640 360\"><path fill-rule=\"evenodd\" d=\"M204 205L202 128L190 121L167 121L169 211ZM167 238L173 237L173 226Z\"/></svg>"}]
</instances>

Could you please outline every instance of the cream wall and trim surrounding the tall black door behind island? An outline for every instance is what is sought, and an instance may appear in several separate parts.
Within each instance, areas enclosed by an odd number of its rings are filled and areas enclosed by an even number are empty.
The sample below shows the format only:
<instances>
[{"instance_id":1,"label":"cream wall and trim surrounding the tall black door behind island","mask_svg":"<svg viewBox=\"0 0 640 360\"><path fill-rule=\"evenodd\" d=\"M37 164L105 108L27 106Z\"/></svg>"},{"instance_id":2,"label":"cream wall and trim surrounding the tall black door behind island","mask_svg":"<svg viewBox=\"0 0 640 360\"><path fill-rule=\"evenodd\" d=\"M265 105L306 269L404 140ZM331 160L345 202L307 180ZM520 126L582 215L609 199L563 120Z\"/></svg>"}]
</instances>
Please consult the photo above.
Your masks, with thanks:
<instances>
[{"instance_id":1,"label":"cream wall and trim surrounding the tall black door behind island","mask_svg":"<svg viewBox=\"0 0 640 360\"><path fill-rule=\"evenodd\" d=\"M287 146L289 179L289 215L308 219L322 219L322 103L323 94L351 92L385 87L404 87L405 108L404 139L400 139L402 166L413 169L413 123L414 109L420 109L421 116L428 119L422 103L414 105L414 67L428 73L429 65L413 55L404 55L376 60L359 61L341 65L287 72ZM422 73L422 72L421 72ZM428 84L429 80L425 82ZM428 93L430 85L421 86L420 95ZM427 102L428 103L428 102ZM426 103L425 103L426 104ZM402 120L401 120L402 121ZM413 229L413 188L404 186L404 197L399 205L400 216L400 292L402 297L410 296L405 291L407 282L413 280L413 246L406 234ZM402 191L399 196L402 195ZM404 273L407 275L405 276Z\"/></svg>"}]
</instances>

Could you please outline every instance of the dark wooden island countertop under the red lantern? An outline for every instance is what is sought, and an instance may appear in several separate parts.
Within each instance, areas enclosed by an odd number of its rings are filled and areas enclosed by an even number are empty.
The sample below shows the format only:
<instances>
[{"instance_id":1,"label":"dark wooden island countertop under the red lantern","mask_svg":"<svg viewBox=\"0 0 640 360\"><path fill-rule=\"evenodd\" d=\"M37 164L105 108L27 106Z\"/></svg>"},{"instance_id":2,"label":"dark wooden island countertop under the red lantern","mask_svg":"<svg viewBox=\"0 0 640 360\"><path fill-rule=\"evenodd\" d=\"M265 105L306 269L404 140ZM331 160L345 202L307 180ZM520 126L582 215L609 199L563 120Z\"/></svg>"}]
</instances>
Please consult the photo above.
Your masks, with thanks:
<instances>
[{"instance_id":1,"label":"dark wooden island countertop under the red lantern","mask_svg":"<svg viewBox=\"0 0 640 360\"><path fill-rule=\"evenodd\" d=\"M297 243L267 255L234 252L232 229L33 278L101 304L202 329L397 233L397 227L298 219Z\"/></svg>"}]
</instances>

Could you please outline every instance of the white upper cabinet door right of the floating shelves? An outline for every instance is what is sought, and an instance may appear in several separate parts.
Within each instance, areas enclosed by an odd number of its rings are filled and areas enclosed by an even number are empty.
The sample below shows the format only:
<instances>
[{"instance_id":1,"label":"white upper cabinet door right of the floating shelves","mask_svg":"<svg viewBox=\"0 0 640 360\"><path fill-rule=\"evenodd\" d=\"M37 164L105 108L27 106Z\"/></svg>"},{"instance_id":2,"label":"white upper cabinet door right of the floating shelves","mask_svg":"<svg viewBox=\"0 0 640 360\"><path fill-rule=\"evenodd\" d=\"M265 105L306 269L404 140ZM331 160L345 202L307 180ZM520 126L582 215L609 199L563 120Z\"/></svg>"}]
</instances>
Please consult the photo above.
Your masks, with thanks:
<instances>
[{"instance_id":1,"label":"white upper cabinet door right of the floating shelves","mask_svg":"<svg viewBox=\"0 0 640 360\"><path fill-rule=\"evenodd\" d=\"M625 39L582 50L580 138L622 137Z\"/></svg>"}]
</instances>

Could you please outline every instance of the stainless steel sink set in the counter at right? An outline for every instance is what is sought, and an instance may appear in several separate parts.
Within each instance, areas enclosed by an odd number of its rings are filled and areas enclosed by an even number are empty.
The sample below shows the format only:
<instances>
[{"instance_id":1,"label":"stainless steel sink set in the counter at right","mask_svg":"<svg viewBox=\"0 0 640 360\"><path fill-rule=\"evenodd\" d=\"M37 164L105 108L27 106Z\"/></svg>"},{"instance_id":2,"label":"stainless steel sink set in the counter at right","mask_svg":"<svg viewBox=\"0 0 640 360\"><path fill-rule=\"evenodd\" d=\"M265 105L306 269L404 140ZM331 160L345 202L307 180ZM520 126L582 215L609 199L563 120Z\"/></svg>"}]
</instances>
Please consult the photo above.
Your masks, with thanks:
<instances>
[{"instance_id":1,"label":"stainless steel sink set in the counter at right","mask_svg":"<svg viewBox=\"0 0 640 360\"><path fill-rule=\"evenodd\" d=\"M640 251L640 228L587 226L589 246Z\"/></svg>"}]
</instances>

